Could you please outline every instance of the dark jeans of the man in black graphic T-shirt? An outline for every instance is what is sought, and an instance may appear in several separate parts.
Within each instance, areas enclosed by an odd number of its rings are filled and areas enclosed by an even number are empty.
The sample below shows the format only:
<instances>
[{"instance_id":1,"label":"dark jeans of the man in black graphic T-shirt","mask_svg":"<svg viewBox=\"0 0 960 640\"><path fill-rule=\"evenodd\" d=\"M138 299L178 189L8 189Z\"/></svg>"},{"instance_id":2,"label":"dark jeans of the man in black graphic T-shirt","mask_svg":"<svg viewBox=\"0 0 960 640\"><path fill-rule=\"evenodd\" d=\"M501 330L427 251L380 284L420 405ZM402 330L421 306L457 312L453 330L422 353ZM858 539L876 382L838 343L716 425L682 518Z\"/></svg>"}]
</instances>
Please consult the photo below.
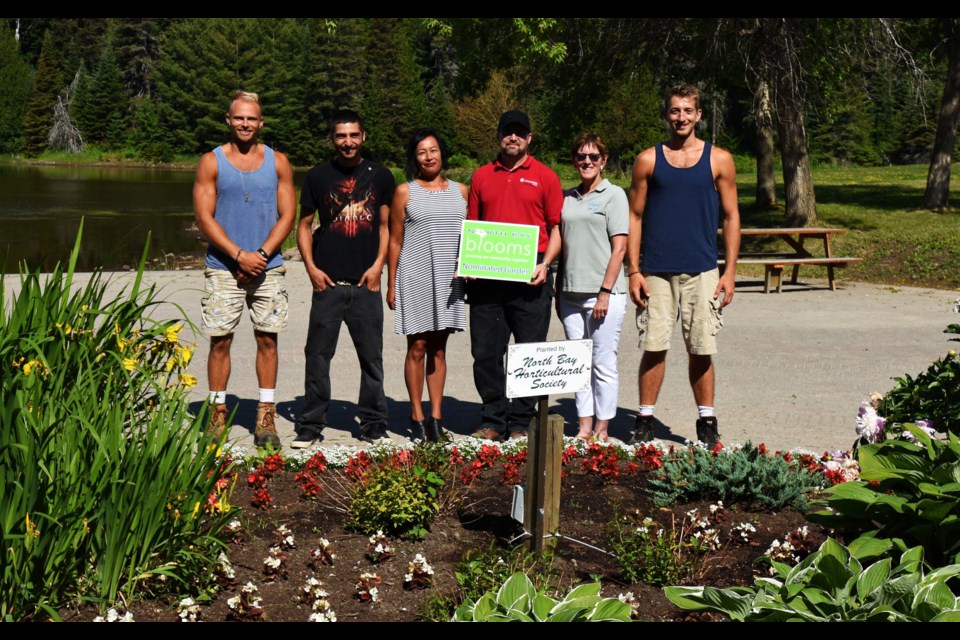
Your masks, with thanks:
<instances>
[{"instance_id":1,"label":"dark jeans of the man in black graphic T-shirt","mask_svg":"<svg viewBox=\"0 0 960 640\"><path fill-rule=\"evenodd\" d=\"M360 430L387 426L383 393L383 297L379 291L337 284L313 292L304 375L301 431L319 433L330 405L330 361L337 351L340 325L346 323L360 361Z\"/></svg>"}]
</instances>

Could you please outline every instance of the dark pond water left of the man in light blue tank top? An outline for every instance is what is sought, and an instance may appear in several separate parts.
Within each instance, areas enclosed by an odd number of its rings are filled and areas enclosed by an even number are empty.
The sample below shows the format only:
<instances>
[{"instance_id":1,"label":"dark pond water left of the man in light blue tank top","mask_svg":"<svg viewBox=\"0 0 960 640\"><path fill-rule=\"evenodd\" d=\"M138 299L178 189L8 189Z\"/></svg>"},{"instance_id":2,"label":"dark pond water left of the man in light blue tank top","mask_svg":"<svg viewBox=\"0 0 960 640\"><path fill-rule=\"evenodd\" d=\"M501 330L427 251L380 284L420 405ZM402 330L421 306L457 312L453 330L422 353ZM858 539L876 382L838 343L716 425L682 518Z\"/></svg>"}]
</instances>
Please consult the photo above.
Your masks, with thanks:
<instances>
[{"instance_id":1,"label":"dark pond water left of the man in light blue tank top","mask_svg":"<svg viewBox=\"0 0 960 640\"><path fill-rule=\"evenodd\" d=\"M136 266L148 235L154 268L199 254L192 185L192 170L0 164L0 264L66 263L81 220L81 271Z\"/></svg>"}]
</instances>

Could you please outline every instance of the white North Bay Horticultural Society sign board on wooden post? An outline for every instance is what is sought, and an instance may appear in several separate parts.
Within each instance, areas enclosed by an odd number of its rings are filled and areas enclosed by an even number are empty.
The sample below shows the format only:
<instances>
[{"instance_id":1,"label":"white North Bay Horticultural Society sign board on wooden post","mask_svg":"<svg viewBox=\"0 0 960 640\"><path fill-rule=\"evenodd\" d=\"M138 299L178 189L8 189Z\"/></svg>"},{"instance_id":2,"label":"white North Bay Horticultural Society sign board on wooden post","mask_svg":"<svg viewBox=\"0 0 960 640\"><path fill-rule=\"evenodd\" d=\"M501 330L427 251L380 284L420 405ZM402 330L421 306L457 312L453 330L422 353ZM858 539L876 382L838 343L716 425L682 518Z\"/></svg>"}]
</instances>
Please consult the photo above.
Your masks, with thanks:
<instances>
[{"instance_id":1,"label":"white North Bay Horticultural Society sign board on wooden post","mask_svg":"<svg viewBox=\"0 0 960 640\"><path fill-rule=\"evenodd\" d=\"M507 349L507 397L574 393L589 388L593 340L527 342Z\"/></svg>"}]
</instances>

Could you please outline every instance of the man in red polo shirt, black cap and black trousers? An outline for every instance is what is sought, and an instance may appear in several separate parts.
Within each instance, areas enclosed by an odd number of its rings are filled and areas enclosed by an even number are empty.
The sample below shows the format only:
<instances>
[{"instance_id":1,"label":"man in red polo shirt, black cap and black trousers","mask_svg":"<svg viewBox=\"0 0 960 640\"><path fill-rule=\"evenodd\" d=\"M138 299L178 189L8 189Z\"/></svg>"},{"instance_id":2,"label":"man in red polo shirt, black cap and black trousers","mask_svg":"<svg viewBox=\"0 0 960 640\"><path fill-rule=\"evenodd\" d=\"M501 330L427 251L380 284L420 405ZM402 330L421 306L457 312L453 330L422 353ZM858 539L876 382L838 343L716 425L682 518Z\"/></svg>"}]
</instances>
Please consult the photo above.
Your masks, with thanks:
<instances>
[{"instance_id":1,"label":"man in red polo shirt, black cap and black trousers","mask_svg":"<svg viewBox=\"0 0 960 640\"><path fill-rule=\"evenodd\" d=\"M540 228L537 267L529 283L474 280L469 283L473 379L483 401L478 438L525 437L536 398L506 397L504 356L510 334L520 342L543 342L550 326L553 278L549 265L560 253L560 178L529 154L530 118L522 111L500 116L496 160L473 174L467 218L530 224Z\"/></svg>"}]
</instances>

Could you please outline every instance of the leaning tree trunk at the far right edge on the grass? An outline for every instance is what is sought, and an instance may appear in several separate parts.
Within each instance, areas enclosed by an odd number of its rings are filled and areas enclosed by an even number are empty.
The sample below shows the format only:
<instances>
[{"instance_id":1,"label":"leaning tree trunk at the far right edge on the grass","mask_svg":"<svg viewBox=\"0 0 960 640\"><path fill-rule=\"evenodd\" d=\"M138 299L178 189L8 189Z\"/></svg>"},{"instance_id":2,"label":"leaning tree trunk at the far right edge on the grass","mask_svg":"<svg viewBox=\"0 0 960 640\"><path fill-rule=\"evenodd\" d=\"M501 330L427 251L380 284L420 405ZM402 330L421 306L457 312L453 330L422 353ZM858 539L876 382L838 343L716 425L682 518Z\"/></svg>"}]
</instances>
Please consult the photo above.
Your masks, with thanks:
<instances>
[{"instance_id":1,"label":"leaning tree trunk at the far right edge on the grass","mask_svg":"<svg viewBox=\"0 0 960 640\"><path fill-rule=\"evenodd\" d=\"M940 211L946 209L950 197L950 156L957 135L957 116L960 115L960 38L953 18L944 18L950 50L950 66L943 85L940 100L940 116L937 118L937 135L930 156L927 172L927 190L923 194L923 208Z\"/></svg>"}]
</instances>

